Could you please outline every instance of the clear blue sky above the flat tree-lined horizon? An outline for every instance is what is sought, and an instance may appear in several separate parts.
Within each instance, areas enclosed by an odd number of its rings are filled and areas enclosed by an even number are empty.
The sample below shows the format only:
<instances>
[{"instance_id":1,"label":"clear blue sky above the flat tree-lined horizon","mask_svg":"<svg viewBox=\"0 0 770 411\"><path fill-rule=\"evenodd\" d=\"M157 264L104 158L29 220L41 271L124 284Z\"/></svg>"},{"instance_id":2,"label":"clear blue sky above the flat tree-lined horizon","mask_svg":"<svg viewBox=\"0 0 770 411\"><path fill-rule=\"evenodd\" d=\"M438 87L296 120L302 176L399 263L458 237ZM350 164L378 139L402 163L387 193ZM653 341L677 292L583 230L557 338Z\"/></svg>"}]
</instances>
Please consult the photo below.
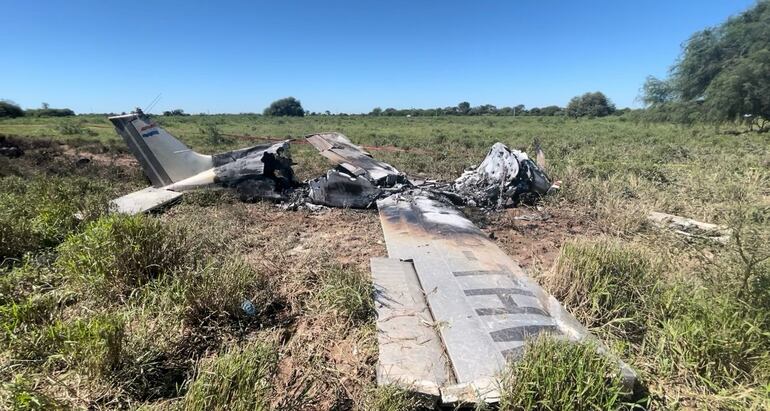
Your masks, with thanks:
<instances>
[{"instance_id":1,"label":"clear blue sky above the flat tree-lined horizon","mask_svg":"<svg viewBox=\"0 0 770 411\"><path fill-rule=\"evenodd\" d=\"M693 32L754 0L6 1L0 98L77 112L619 107Z\"/></svg>"}]
</instances>

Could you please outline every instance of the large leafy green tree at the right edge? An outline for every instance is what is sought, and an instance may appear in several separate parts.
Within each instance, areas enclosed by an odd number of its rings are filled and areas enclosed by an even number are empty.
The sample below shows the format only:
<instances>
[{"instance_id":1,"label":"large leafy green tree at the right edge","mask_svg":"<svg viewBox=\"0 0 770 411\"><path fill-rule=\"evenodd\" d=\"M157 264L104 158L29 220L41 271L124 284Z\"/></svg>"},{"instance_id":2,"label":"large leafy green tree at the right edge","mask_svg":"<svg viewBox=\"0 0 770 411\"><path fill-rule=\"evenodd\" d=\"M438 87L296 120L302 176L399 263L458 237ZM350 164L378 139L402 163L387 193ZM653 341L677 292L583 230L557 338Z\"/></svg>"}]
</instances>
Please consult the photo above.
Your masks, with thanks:
<instances>
[{"instance_id":1,"label":"large leafy green tree at the right edge","mask_svg":"<svg viewBox=\"0 0 770 411\"><path fill-rule=\"evenodd\" d=\"M702 102L706 119L770 119L770 1L690 37L667 80L648 77L643 101L672 109Z\"/></svg>"}]
</instances>

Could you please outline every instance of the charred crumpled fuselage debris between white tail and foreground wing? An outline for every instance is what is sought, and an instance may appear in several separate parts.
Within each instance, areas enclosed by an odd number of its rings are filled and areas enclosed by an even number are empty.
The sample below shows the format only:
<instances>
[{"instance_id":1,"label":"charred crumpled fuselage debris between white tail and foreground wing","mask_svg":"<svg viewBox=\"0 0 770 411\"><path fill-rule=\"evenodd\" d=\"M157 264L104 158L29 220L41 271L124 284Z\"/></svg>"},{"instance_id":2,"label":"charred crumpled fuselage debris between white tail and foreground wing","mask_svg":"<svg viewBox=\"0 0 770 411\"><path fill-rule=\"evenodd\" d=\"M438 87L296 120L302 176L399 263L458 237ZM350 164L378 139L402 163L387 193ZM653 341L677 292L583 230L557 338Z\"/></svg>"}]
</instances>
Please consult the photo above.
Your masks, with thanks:
<instances>
[{"instance_id":1,"label":"charred crumpled fuselage debris between white tail and foreground wing","mask_svg":"<svg viewBox=\"0 0 770 411\"><path fill-rule=\"evenodd\" d=\"M260 161L252 160L255 165L249 170L256 171L258 178L244 179L236 186L241 198L246 201L257 198L286 200L286 208L307 204L372 208L377 200L390 195L419 191L441 196L455 205L500 209L515 206L524 198L540 197L556 188L526 153L511 150L502 143L495 143L479 166L466 170L454 182L438 182L410 180L390 164L374 159L340 133L313 134L306 140L335 167L300 185L291 171L288 144L283 143L281 150L269 155L265 152ZM243 172L244 168L238 162L227 166L233 173L252 174Z\"/></svg>"}]
</instances>

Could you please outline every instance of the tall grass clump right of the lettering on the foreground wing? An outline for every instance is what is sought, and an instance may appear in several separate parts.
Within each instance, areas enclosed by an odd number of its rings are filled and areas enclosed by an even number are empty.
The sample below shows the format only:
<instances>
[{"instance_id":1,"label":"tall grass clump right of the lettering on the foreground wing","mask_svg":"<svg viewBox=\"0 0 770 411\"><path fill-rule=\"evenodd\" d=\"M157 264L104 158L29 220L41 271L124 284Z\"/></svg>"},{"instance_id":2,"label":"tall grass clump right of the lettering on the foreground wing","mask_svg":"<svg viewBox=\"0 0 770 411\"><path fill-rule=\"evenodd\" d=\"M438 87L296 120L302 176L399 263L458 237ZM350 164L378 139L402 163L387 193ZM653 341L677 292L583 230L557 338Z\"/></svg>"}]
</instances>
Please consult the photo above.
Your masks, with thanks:
<instances>
[{"instance_id":1,"label":"tall grass clump right of the lettering on the foreground wing","mask_svg":"<svg viewBox=\"0 0 770 411\"><path fill-rule=\"evenodd\" d=\"M577 240L564 244L545 284L586 326L633 338L655 305L658 277L653 261L632 245Z\"/></svg>"}]
</instances>

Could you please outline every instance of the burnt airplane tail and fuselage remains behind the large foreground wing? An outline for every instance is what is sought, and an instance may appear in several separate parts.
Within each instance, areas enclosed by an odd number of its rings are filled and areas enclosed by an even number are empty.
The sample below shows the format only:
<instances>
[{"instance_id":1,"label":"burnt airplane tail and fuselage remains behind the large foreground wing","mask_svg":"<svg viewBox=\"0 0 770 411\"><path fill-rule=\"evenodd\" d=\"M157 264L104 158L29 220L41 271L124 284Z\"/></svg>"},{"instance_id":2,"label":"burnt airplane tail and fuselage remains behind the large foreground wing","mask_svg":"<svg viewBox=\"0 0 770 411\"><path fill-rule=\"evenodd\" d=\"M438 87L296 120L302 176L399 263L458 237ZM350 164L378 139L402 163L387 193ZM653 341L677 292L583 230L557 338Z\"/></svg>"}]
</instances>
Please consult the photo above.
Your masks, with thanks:
<instances>
[{"instance_id":1,"label":"burnt airplane tail and fuselage remains behind the large foreground wing","mask_svg":"<svg viewBox=\"0 0 770 411\"><path fill-rule=\"evenodd\" d=\"M336 167L300 184L291 168L288 140L203 155L141 110L109 120L152 183L112 201L114 209L123 213L146 212L169 204L185 191L210 187L233 188L243 201L292 199L295 205L371 208L378 199L419 185L446 195L456 204L490 209L514 206L523 196L544 195L555 187L526 153L502 143L493 145L477 168L466 171L452 184L413 184L405 174L374 159L344 135L313 134L306 140ZM300 193L295 193L299 188Z\"/></svg>"}]
</instances>

